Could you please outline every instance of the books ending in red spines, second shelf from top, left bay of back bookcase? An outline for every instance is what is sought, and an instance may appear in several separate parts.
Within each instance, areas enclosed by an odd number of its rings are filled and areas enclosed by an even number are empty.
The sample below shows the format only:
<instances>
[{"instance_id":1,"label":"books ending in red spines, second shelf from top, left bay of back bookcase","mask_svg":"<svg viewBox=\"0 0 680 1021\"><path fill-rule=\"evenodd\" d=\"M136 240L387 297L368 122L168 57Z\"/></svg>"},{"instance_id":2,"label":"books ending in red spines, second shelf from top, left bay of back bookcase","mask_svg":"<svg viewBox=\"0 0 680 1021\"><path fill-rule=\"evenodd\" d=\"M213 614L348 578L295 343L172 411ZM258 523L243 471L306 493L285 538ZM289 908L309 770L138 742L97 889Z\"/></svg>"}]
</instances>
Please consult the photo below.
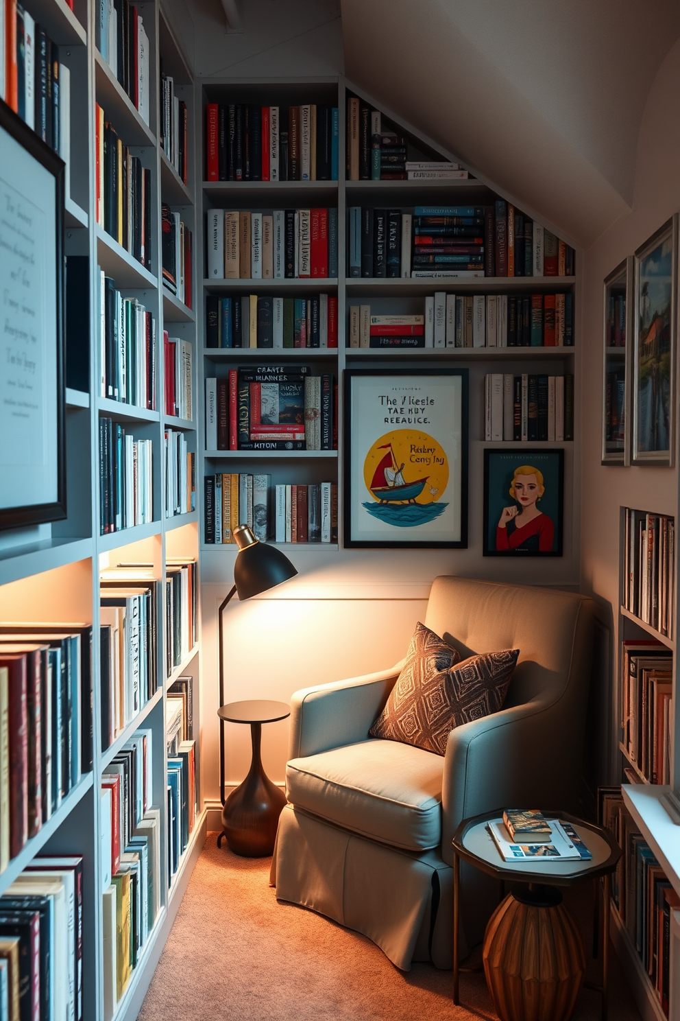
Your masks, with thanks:
<instances>
[{"instance_id":1,"label":"books ending in red spines, second shelf from top, left bay of back bookcase","mask_svg":"<svg viewBox=\"0 0 680 1021\"><path fill-rule=\"evenodd\" d=\"M337 277L337 209L209 209L210 280Z\"/></svg>"}]
</instances>

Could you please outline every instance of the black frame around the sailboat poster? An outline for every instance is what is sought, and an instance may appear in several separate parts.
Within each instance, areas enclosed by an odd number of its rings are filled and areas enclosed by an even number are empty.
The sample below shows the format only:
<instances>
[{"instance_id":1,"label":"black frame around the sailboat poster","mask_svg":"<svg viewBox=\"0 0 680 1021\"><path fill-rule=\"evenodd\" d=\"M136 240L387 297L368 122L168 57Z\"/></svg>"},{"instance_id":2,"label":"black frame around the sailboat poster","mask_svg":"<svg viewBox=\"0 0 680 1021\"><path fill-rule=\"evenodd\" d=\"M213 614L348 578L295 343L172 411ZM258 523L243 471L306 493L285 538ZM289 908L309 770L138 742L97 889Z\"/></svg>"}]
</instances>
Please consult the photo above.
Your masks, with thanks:
<instances>
[{"instance_id":1,"label":"black frame around the sailboat poster","mask_svg":"<svg viewBox=\"0 0 680 1021\"><path fill-rule=\"evenodd\" d=\"M469 443L469 373L467 369L346 369L344 375L344 387L345 387L345 422L344 422L344 439L345 439L345 493L344 493L344 545L350 549L409 549L409 548L420 548L420 549L466 549L468 545L468 443ZM360 469L354 464L353 457L353 414L354 414L354 403L355 403L355 392L354 383L360 380L375 379L378 381L384 381L383 386L391 385L390 380L404 381L402 387L408 387L410 389L415 389L419 393L423 394L421 398L425 399L427 396L427 381L431 381L430 387L433 388L433 392L440 387L442 381L451 380L452 383L456 381L456 385L451 388L450 400L454 402L458 399L458 404L455 406L446 407L442 401L438 403L441 405L441 416L450 415L455 428L458 430L459 436L456 440L449 440L444 438L444 433L441 435L443 439L443 446L449 447L444 450L444 464L447 471L447 484L443 487L432 486L428 487L429 493L432 494L431 503L437 501L437 506L442 506L444 509L438 512L434 518L444 519L441 522L442 526L448 526L448 519L454 519L457 537L452 539L436 538L432 535L425 535L423 539L414 537L413 530L416 527L420 527L421 524L429 525L429 521L425 522L415 522L411 527L405 529L409 534L404 539L400 539L398 534L399 528L389 528L388 525L384 527L384 538L376 535L371 538L360 538L358 529L353 523L353 516L356 517L358 513L358 501L366 497L368 492L374 497L375 503L377 504L377 497L375 497L373 490L369 487L368 483L358 484L354 480L354 475L361 472L362 478L366 472L366 464L368 455L370 455L371 446L375 446L379 439L384 439L385 437L375 437L373 443L369 443L367 447L368 454L365 457L364 466ZM424 390L423 390L424 387ZM437 403L434 401L434 403ZM442 420L443 421L443 420ZM428 422L421 422L410 428L418 430L418 425L424 426L421 432L427 431L427 428L432 428L431 420ZM373 432L378 432L381 427L376 425ZM384 432L394 432L391 426L384 426ZM366 446L366 443L371 439L371 429L370 427L362 433L362 444ZM451 446L456 446L460 443L460 449L456 449L454 457L451 456ZM434 441L434 446L438 447L438 441ZM362 447L363 450L363 447ZM391 447L389 447L390 454L394 457L394 452ZM355 451L356 453L356 451ZM385 457L387 454L384 455ZM438 500L439 495L443 495L449 489L449 464L452 461L454 464L454 478L451 480L451 485L455 487L456 482L458 482L458 493L456 488L453 489L452 496L450 500L444 504ZM397 464L394 465L398 468ZM402 466L404 467L404 466ZM422 471L427 471L427 466ZM408 474L408 473L407 473ZM419 474L416 471L416 474ZM429 475L425 477L425 482L429 481ZM412 485L418 485L419 482L423 482L423 478L416 480ZM407 485L408 480L405 482ZM361 490L361 491L360 491ZM406 491L406 490L405 490ZM419 495L419 494L417 494ZM411 499L408 502L411 503L412 507L415 506L417 500L417 495L415 499ZM447 514L448 508L452 500L455 500L454 507L452 512ZM397 501L384 501L387 504L394 506L397 505ZM399 501L404 504L407 501ZM373 507L371 503L371 507ZM422 505L422 504L421 504ZM366 504L364 504L366 506ZM442 529L443 530L443 529ZM381 531L381 529L380 529Z\"/></svg>"}]
</instances>

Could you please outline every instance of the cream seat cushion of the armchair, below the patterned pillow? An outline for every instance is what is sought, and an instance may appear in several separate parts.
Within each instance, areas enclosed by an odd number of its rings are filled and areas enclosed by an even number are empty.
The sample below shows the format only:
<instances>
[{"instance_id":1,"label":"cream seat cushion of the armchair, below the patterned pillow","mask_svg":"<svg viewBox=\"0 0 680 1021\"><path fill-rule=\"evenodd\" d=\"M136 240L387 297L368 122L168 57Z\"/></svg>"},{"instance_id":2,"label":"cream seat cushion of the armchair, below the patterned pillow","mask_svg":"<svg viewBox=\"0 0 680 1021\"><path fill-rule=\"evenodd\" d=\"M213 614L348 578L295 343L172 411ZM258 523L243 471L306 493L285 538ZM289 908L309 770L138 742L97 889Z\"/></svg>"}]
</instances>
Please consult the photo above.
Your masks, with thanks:
<instances>
[{"instance_id":1,"label":"cream seat cushion of the armchair, below the patterned pillow","mask_svg":"<svg viewBox=\"0 0 680 1021\"><path fill-rule=\"evenodd\" d=\"M372 739L292 759L292 805L362 836L405 850L441 841L441 756Z\"/></svg>"}]
</instances>

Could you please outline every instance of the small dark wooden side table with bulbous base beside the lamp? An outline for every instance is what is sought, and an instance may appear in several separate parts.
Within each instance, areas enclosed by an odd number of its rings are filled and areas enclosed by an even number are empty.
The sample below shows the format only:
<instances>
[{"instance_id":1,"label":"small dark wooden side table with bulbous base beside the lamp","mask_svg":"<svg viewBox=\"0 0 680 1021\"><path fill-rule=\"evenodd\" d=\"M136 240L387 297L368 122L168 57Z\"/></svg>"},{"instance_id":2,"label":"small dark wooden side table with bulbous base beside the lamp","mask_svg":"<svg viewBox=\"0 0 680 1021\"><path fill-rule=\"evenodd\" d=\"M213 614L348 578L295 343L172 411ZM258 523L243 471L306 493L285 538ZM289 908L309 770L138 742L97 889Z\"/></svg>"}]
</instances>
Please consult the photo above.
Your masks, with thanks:
<instances>
[{"instance_id":1,"label":"small dark wooden side table with bulbous base beside the lamp","mask_svg":"<svg viewBox=\"0 0 680 1021\"><path fill-rule=\"evenodd\" d=\"M248 776L231 791L222 808L222 832L217 837L218 847L222 844L222 837L226 837L230 849L244 858L264 858L272 854L285 794L271 782L262 768L262 724L285 720L290 715L291 709L285 702L262 698L229 702L217 710L220 720L249 723L253 744Z\"/></svg>"}]
</instances>

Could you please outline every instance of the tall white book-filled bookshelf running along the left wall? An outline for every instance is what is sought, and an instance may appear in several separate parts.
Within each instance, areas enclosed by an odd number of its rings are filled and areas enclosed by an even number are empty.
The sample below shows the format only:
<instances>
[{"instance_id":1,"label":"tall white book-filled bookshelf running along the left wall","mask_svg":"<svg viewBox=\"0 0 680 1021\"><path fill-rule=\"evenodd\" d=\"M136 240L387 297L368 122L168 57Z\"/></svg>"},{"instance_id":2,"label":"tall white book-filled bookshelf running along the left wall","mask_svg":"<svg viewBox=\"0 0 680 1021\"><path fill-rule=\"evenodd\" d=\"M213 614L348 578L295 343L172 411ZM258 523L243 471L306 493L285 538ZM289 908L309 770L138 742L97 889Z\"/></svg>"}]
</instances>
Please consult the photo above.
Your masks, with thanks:
<instances>
[{"instance_id":1,"label":"tall white book-filled bookshelf running along the left wall","mask_svg":"<svg viewBox=\"0 0 680 1021\"><path fill-rule=\"evenodd\" d=\"M139 48L125 54L120 74L114 28L98 20L117 17L117 6L95 11L75 0L71 10L63 0L35 0L27 12L25 23L35 18L49 36L48 74L58 67L61 86L46 124L59 125L67 164L68 517L23 539L3 535L0 547L0 702L10 666L31 665L33 698L36 685L63 678L61 686L45 684L41 723L28 717L23 782L16 759L6 771L13 745L0 734L0 893L19 910L21 890L55 896L59 883L73 890L75 915L69 923L64 913L63 922L82 939L71 949L66 930L55 933L72 977L60 983L59 1016L132 1021L206 829L198 741L199 260L188 233L196 234L195 90L157 5L129 6ZM39 120L37 130L47 129ZM56 139L46 135L55 147ZM175 293L164 284L164 205L185 225L187 244L174 249L179 293L176 283ZM179 357L166 362L169 349ZM109 485L116 477L117 491ZM172 703L181 720L168 747ZM15 699L12 711L18 719ZM8 776L20 795L9 827ZM129 935L120 955L116 909Z\"/></svg>"}]
</instances>

